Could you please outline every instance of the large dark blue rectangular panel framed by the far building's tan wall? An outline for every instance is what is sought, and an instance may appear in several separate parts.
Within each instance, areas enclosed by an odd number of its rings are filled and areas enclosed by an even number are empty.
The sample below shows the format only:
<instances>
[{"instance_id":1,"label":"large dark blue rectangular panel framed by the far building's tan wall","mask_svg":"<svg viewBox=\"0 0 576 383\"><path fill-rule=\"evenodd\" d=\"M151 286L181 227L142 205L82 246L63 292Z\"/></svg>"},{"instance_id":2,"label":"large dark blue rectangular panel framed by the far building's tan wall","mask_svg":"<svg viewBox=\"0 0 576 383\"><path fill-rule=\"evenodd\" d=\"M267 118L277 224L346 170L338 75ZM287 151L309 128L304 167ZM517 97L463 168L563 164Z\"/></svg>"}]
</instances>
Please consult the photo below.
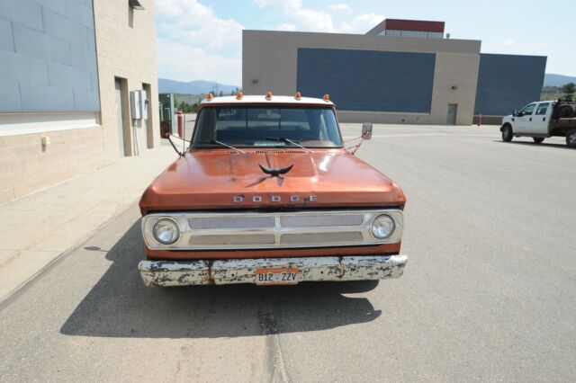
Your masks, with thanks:
<instances>
[{"instance_id":1,"label":"large dark blue rectangular panel framed by the far building's tan wall","mask_svg":"<svg viewBox=\"0 0 576 383\"><path fill-rule=\"evenodd\" d=\"M436 55L356 49L298 49L297 87L342 111L430 112Z\"/></svg>"}]
</instances>

